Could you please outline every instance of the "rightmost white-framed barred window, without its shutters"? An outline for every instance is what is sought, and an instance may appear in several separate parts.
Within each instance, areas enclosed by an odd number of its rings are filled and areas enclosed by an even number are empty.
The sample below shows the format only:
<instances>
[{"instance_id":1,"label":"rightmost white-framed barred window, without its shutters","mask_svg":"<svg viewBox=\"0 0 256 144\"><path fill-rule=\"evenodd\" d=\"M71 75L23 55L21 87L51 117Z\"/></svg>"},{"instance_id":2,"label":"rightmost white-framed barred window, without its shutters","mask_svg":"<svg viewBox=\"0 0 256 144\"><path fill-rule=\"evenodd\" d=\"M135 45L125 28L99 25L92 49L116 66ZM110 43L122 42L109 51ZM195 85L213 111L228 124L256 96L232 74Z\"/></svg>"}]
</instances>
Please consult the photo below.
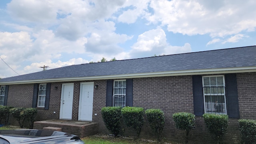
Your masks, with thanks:
<instances>
[{"instance_id":1,"label":"rightmost white-framed barred window, without its shutters","mask_svg":"<svg viewBox=\"0 0 256 144\"><path fill-rule=\"evenodd\" d=\"M204 113L227 114L224 76L203 76Z\"/></svg>"}]
</instances>

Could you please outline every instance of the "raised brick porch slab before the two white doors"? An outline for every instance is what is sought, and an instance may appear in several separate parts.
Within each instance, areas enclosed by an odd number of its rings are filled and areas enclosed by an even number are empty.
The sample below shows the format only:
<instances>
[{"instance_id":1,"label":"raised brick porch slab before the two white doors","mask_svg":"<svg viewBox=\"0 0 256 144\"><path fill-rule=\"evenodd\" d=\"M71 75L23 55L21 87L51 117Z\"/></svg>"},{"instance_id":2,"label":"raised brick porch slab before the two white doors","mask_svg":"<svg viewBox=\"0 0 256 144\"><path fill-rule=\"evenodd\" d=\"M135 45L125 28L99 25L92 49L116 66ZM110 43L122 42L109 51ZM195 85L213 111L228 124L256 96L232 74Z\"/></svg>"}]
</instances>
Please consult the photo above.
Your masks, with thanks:
<instances>
[{"instance_id":1,"label":"raised brick porch slab before the two white doors","mask_svg":"<svg viewBox=\"0 0 256 144\"><path fill-rule=\"evenodd\" d=\"M74 134L83 138L98 133L98 123L72 120L44 120L34 122L34 129L42 130L45 127L62 128L62 132Z\"/></svg>"}]
</instances>

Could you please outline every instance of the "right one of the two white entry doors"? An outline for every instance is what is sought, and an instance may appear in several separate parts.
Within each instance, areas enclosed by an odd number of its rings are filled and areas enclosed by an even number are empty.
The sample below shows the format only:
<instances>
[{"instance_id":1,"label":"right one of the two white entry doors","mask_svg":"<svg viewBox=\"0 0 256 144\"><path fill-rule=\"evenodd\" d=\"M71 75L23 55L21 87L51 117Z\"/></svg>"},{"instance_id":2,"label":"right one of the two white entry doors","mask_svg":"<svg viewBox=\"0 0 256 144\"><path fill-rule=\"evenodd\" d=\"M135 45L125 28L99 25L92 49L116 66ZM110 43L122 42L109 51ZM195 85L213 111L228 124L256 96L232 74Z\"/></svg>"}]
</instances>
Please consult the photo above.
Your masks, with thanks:
<instances>
[{"instance_id":1,"label":"right one of the two white entry doors","mask_svg":"<svg viewBox=\"0 0 256 144\"><path fill-rule=\"evenodd\" d=\"M78 120L92 121L93 89L94 82L80 84Z\"/></svg>"}]
</instances>

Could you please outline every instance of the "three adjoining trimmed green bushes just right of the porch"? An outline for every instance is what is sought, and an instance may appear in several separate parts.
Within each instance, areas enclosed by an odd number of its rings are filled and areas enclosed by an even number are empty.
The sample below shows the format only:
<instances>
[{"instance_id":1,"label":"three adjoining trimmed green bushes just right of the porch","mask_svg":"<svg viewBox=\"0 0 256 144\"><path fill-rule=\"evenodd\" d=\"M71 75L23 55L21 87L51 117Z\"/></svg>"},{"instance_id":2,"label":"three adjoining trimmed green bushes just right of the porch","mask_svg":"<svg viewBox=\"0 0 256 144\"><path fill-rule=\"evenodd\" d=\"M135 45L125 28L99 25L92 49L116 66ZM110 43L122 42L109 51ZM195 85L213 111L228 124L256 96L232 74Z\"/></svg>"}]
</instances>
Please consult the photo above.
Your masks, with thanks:
<instances>
[{"instance_id":1,"label":"three adjoining trimmed green bushes just right of the porch","mask_svg":"<svg viewBox=\"0 0 256 144\"><path fill-rule=\"evenodd\" d=\"M146 110L146 116L150 127L157 135L158 140L162 140L162 131L164 128L164 112L160 109ZM101 109L102 118L106 128L112 132L114 136L118 136L120 132L121 118L127 127L132 127L140 135L141 128L144 124L144 109L140 107L103 107Z\"/></svg>"}]
</instances>

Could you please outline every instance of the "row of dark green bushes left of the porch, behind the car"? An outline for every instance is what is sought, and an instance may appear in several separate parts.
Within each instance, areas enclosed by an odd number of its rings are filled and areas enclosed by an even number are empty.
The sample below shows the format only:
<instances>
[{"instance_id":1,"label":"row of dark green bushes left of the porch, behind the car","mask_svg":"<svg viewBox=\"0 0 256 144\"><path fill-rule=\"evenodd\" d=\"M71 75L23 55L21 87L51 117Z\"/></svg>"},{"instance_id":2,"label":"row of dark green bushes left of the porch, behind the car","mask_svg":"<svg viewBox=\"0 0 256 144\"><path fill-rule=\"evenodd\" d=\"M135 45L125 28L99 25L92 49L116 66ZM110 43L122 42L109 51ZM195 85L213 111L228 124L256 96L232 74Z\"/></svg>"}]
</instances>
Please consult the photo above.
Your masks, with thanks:
<instances>
[{"instance_id":1,"label":"row of dark green bushes left of the porch, behind the car","mask_svg":"<svg viewBox=\"0 0 256 144\"><path fill-rule=\"evenodd\" d=\"M0 106L0 123L4 120L4 125L8 125L9 116L12 115L23 128L25 120L29 122L29 128L33 128L34 118L36 117L36 108L13 108L11 106Z\"/></svg>"}]
</instances>

